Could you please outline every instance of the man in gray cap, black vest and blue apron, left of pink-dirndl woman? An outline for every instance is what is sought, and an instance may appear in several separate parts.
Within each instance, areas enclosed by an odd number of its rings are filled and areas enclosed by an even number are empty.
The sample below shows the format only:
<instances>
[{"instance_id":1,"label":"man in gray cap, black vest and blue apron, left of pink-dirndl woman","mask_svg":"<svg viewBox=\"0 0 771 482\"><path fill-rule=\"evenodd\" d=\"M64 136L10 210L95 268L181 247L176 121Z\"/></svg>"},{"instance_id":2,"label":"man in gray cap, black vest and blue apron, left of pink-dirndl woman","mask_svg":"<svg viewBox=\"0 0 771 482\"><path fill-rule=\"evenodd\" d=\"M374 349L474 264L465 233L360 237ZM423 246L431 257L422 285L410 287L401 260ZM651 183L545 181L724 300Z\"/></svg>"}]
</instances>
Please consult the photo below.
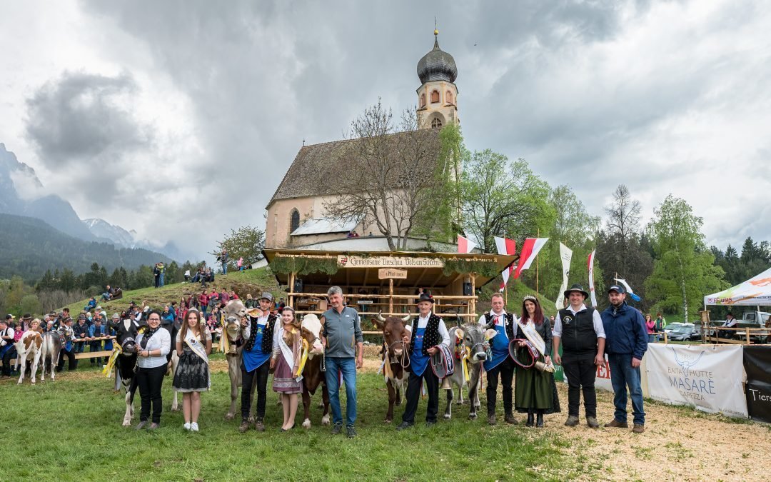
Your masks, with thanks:
<instances>
[{"instance_id":1,"label":"man in gray cap, black vest and blue apron, left of pink-dirndl woman","mask_svg":"<svg viewBox=\"0 0 771 482\"><path fill-rule=\"evenodd\" d=\"M254 430L264 432L265 403L268 397L268 373L273 352L273 329L276 315L271 315L273 295L263 292L259 299L259 316L252 316L241 322L241 335L246 340L241 352L241 433L249 430L249 410L251 409L251 387L257 385L257 420ZM227 336L223 334L223 336Z\"/></svg>"}]
</instances>

